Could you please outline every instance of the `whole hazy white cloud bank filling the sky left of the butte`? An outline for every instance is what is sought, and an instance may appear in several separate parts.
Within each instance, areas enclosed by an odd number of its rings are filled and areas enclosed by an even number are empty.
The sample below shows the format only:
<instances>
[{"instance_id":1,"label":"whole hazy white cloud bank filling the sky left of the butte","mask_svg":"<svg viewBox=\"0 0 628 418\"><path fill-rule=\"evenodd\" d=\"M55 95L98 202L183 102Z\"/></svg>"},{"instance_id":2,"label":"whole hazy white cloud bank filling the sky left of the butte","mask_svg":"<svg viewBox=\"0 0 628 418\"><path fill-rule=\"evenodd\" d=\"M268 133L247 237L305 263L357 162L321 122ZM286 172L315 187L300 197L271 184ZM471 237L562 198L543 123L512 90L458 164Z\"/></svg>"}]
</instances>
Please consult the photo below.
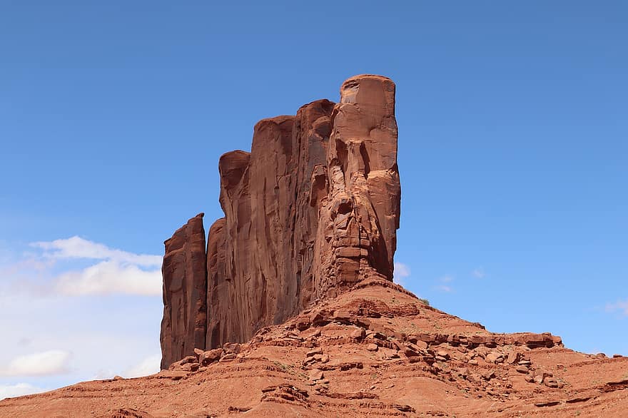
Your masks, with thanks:
<instances>
[{"instance_id":1,"label":"whole hazy white cloud bank filling the sky left of the butte","mask_svg":"<svg viewBox=\"0 0 628 418\"><path fill-rule=\"evenodd\" d=\"M81 238L0 240L0 398L158 371L143 357L160 352L160 270L161 256Z\"/></svg>"}]
</instances>

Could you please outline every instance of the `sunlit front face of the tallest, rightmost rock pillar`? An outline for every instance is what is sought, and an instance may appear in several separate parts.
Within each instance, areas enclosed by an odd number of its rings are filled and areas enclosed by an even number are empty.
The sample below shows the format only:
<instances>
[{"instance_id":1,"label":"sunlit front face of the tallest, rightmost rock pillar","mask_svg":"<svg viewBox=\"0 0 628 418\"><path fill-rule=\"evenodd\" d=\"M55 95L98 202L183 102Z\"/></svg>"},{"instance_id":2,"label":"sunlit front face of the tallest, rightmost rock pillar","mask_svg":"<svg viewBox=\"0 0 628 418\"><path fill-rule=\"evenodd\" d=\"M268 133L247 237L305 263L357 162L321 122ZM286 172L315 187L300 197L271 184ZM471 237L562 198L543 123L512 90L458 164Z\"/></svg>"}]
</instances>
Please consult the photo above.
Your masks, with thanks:
<instances>
[{"instance_id":1,"label":"sunlit front face of the tallest, rightmost rock pillar","mask_svg":"<svg viewBox=\"0 0 628 418\"><path fill-rule=\"evenodd\" d=\"M340 88L331 116L315 243L316 297L369 275L393 280L401 188L397 173L395 84L356 76Z\"/></svg>"}]
</instances>

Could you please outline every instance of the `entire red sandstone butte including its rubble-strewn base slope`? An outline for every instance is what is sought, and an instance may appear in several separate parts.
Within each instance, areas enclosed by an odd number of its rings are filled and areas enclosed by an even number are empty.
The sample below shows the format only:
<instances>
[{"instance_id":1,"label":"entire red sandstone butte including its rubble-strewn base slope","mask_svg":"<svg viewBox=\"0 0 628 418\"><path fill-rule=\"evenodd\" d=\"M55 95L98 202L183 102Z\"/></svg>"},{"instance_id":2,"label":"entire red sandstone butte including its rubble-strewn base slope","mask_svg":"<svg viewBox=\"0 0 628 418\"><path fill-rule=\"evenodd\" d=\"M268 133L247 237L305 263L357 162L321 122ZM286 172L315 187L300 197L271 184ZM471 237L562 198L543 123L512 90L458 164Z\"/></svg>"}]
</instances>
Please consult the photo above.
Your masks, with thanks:
<instances>
[{"instance_id":1,"label":"entire red sandstone butte including its rubble-strewn base slope","mask_svg":"<svg viewBox=\"0 0 628 418\"><path fill-rule=\"evenodd\" d=\"M628 357L495 334L393 283L395 84L255 125L225 216L166 240L162 370L0 401L0 417L628 417Z\"/></svg>"}]
</instances>

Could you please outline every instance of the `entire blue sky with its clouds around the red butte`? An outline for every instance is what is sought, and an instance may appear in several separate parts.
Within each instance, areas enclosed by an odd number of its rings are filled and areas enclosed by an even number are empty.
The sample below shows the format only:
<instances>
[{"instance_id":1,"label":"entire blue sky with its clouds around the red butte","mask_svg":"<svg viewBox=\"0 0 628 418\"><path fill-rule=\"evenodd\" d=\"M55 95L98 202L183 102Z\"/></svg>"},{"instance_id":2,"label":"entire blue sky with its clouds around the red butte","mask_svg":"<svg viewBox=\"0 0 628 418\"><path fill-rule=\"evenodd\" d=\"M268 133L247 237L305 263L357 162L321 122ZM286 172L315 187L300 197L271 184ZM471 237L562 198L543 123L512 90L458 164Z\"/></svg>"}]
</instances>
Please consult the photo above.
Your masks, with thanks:
<instances>
[{"instance_id":1,"label":"entire blue sky with its clouds around the red butte","mask_svg":"<svg viewBox=\"0 0 628 418\"><path fill-rule=\"evenodd\" d=\"M628 355L622 1L0 4L0 398L158 364L163 240L260 118L397 83L397 279ZM152 257L151 257L152 256Z\"/></svg>"}]
</instances>

